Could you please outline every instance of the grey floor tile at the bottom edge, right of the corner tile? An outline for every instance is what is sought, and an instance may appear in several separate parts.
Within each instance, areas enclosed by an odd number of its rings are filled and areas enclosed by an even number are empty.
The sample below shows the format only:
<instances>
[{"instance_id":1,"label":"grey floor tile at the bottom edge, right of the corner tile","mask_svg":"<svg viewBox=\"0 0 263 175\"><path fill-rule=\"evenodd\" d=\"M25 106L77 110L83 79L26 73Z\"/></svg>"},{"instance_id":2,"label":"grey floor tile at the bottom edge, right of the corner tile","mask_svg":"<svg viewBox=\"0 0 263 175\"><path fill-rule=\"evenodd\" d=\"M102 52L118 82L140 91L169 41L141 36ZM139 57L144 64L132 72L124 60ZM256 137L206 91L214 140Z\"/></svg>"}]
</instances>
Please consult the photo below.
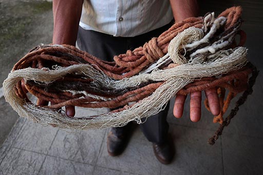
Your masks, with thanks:
<instances>
[{"instance_id":1,"label":"grey floor tile at the bottom edge, right of the corner tile","mask_svg":"<svg viewBox=\"0 0 263 175\"><path fill-rule=\"evenodd\" d=\"M39 174L92 174L93 166L47 155Z\"/></svg>"}]
</instances>

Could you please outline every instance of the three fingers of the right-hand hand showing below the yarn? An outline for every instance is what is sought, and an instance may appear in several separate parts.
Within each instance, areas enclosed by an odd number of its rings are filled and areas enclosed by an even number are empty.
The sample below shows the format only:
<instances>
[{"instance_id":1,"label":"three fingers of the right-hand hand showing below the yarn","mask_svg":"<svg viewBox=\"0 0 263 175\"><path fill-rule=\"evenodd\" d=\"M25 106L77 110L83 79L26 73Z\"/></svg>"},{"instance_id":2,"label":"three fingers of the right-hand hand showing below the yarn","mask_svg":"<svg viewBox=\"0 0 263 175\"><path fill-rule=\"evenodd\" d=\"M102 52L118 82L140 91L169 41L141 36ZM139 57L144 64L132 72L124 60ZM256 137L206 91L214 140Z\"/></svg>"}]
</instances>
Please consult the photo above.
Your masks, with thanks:
<instances>
[{"instance_id":1,"label":"three fingers of the right-hand hand showing below the yarn","mask_svg":"<svg viewBox=\"0 0 263 175\"><path fill-rule=\"evenodd\" d=\"M209 108L213 115L219 115L220 103L216 88L205 90L206 98L208 98ZM198 122L201 118L201 91L190 93L190 119L192 122ZM174 104L174 116L181 118L183 114L184 102L186 95L176 95Z\"/></svg>"}]
</instances>

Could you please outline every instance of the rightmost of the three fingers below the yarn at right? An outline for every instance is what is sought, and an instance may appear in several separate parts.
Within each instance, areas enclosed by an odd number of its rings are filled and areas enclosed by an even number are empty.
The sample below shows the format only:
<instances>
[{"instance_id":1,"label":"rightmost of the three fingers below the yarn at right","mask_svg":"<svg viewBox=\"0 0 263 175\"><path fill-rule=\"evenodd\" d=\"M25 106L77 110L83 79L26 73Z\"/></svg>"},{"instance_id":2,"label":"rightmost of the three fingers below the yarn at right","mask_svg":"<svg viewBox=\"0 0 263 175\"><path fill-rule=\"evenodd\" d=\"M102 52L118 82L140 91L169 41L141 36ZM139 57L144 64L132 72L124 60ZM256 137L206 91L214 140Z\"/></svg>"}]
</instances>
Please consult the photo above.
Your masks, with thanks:
<instances>
[{"instance_id":1,"label":"rightmost of the three fingers below the yarn at right","mask_svg":"<svg viewBox=\"0 0 263 175\"><path fill-rule=\"evenodd\" d=\"M209 108L213 115L219 115L220 102L216 88L205 90L206 98L208 98Z\"/></svg>"}]
</instances>

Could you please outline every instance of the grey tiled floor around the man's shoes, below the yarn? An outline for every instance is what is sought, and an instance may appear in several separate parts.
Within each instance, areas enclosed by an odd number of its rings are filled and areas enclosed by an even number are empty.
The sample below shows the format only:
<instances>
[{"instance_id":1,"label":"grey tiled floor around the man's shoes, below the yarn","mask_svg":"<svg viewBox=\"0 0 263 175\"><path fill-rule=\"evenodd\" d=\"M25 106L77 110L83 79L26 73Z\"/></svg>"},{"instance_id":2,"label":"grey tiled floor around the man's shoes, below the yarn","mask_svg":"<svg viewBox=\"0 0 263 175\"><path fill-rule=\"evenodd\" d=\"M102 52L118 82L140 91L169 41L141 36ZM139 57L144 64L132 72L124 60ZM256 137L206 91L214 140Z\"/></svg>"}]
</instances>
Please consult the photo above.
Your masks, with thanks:
<instances>
[{"instance_id":1,"label":"grey tiled floor around the man's shoes, below the yarn","mask_svg":"<svg viewBox=\"0 0 263 175\"><path fill-rule=\"evenodd\" d=\"M105 109L103 109L105 111ZM80 114L95 110L80 110ZM101 112L101 111L100 111ZM240 114L242 116L242 114ZM169 121L178 120L168 116ZM179 119L186 122L187 117ZM178 120L178 121L179 121ZM203 123L177 125L170 122L176 157L172 164L160 164L149 143L137 128L119 157L106 150L108 129L66 132L18 119L0 148L0 174L260 174L263 173L263 138L226 132L215 145L206 143L213 130ZM238 125L233 120L229 129ZM254 125L256 126L256 125ZM248 124L248 128L254 127Z\"/></svg>"}]
</instances>

